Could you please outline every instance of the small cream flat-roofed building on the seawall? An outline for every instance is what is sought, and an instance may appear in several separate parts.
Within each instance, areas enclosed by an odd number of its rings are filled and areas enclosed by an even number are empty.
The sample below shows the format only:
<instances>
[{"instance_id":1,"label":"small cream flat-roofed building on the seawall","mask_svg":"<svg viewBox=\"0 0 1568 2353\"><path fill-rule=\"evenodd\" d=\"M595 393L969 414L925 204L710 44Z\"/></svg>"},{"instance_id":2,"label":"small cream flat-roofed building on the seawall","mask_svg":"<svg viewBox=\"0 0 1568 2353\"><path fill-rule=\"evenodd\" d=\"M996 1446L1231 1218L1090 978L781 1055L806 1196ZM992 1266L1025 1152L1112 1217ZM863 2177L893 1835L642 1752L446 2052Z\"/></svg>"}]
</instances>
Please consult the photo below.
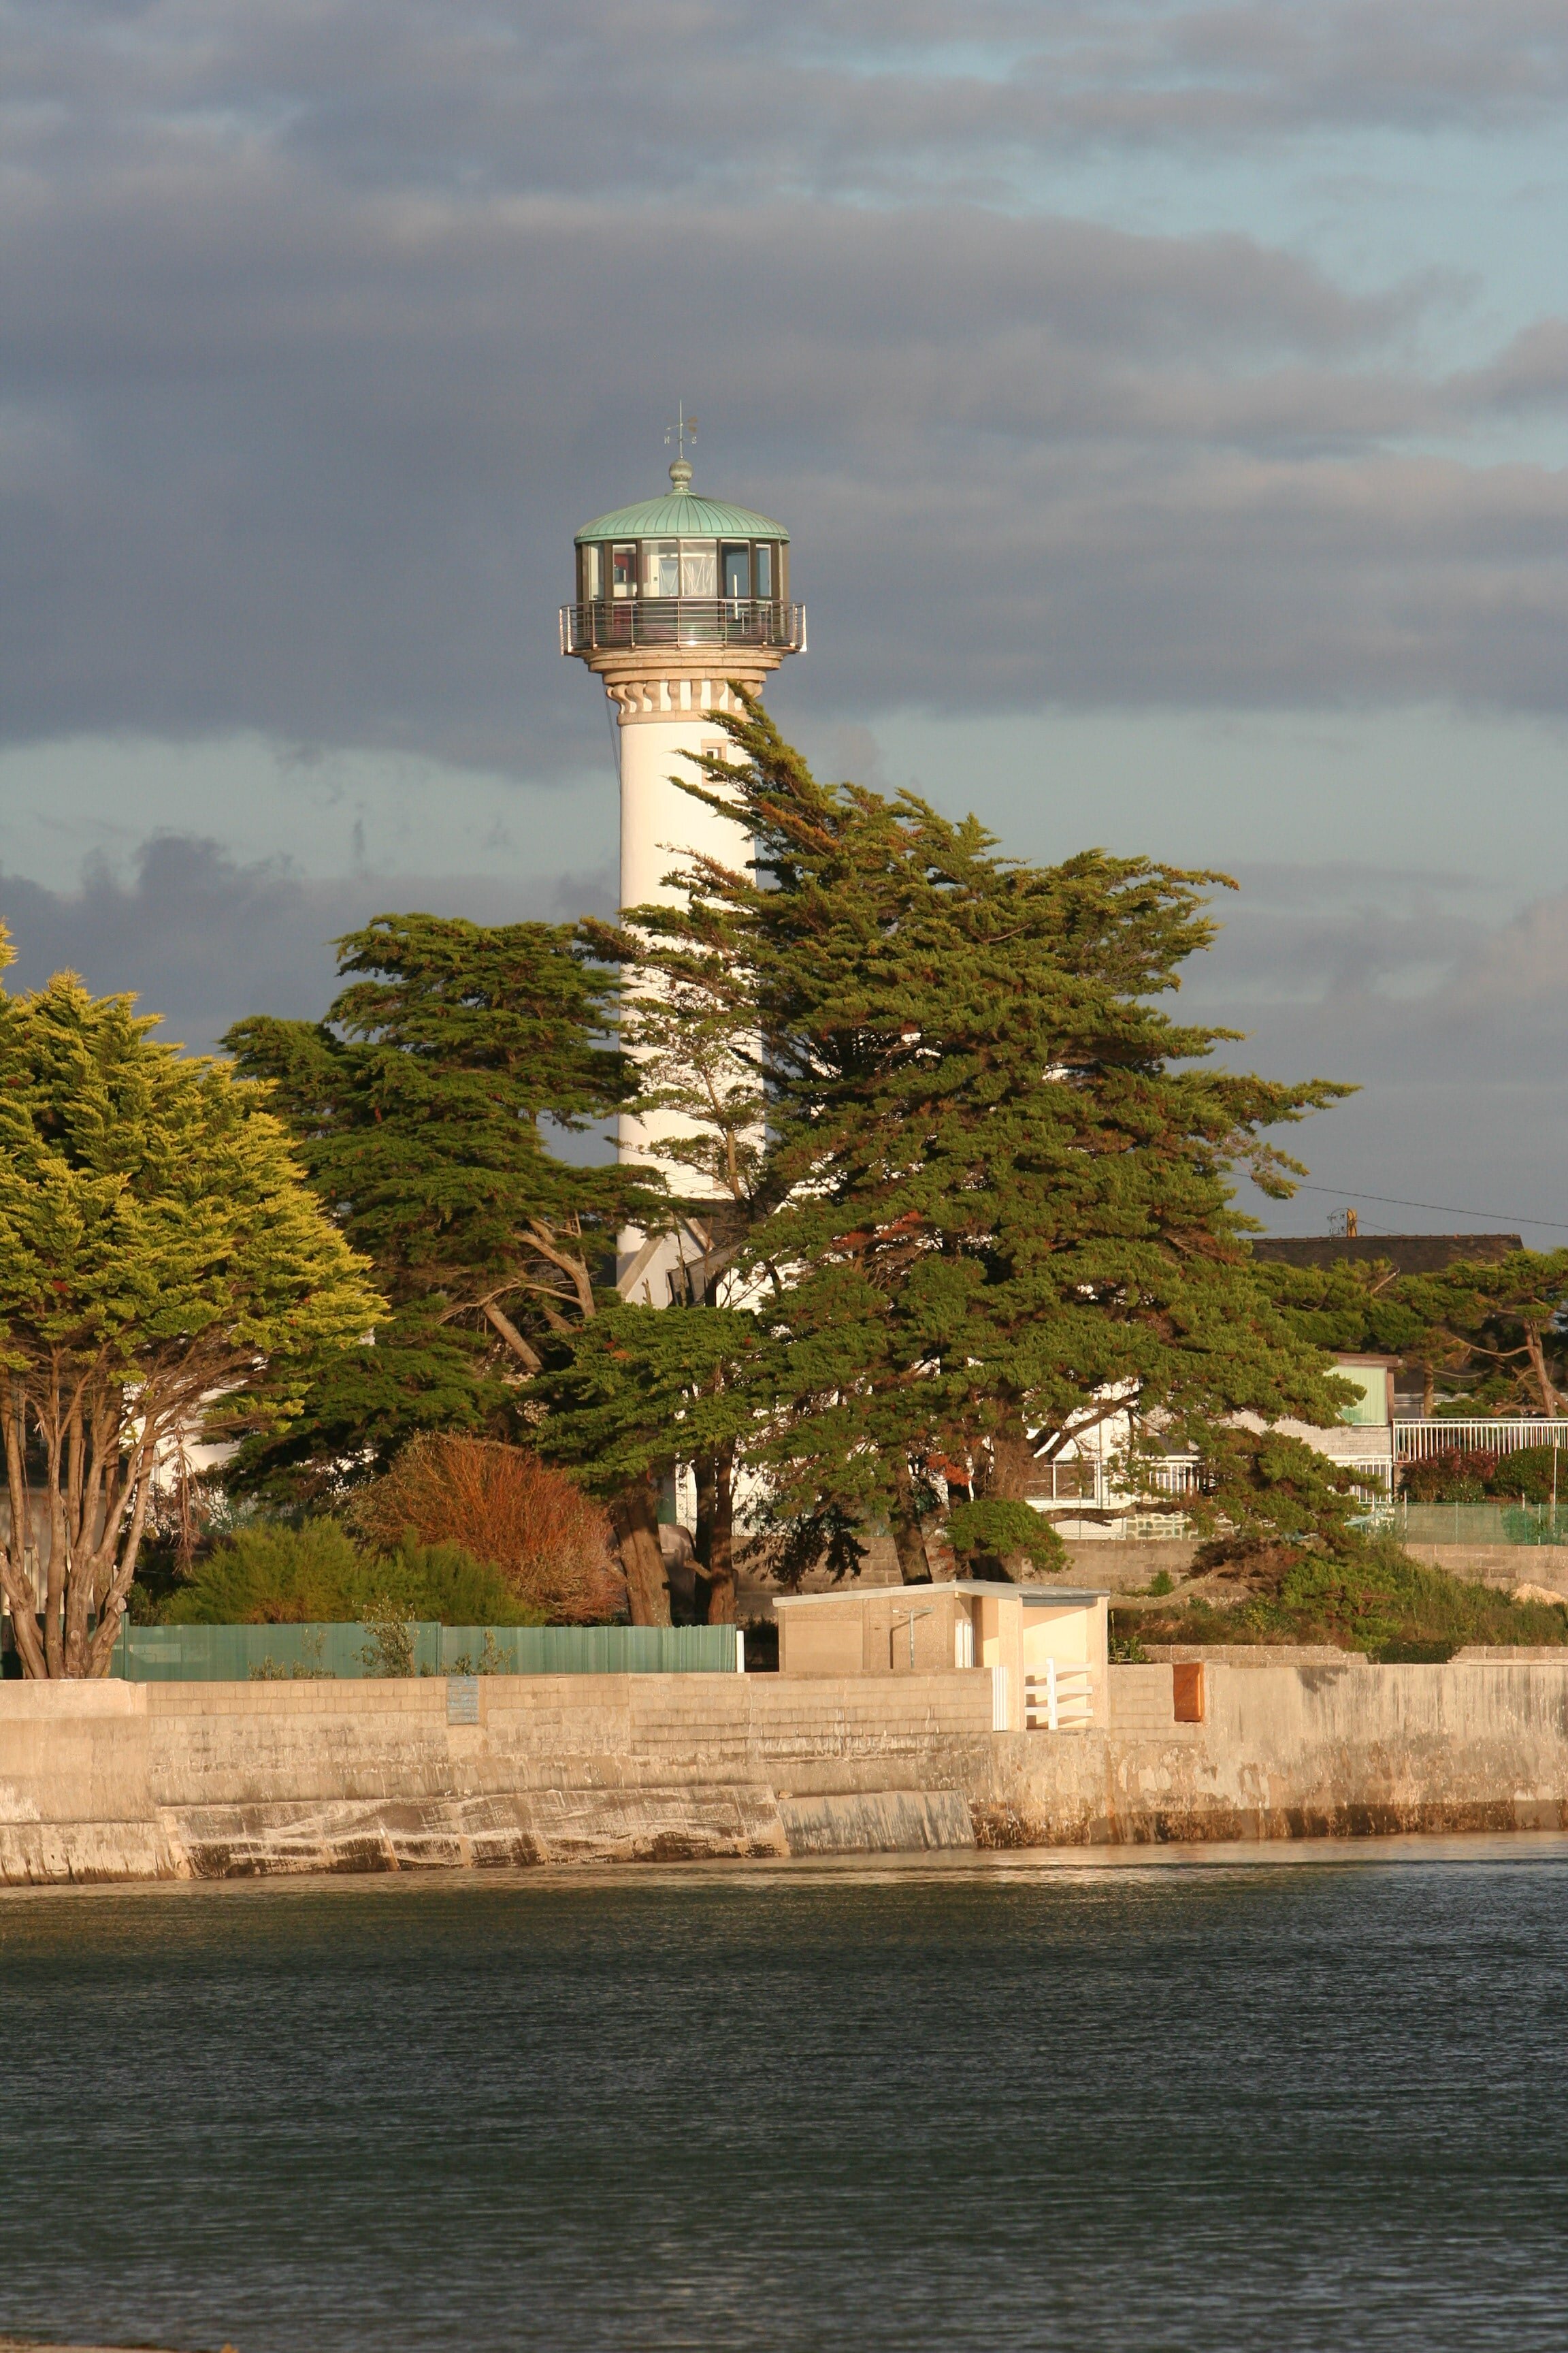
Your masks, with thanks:
<instances>
[{"instance_id":1,"label":"small cream flat-roofed building on the seawall","mask_svg":"<svg viewBox=\"0 0 1568 2353\"><path fill-rule=\"evenodd\" d=\"M783 1675L990 1671L999 1732L1067 1732L1107 1720L1110 1595L957 1577L933 1586L785 1593Z\"/></svg>"}]
</instances>

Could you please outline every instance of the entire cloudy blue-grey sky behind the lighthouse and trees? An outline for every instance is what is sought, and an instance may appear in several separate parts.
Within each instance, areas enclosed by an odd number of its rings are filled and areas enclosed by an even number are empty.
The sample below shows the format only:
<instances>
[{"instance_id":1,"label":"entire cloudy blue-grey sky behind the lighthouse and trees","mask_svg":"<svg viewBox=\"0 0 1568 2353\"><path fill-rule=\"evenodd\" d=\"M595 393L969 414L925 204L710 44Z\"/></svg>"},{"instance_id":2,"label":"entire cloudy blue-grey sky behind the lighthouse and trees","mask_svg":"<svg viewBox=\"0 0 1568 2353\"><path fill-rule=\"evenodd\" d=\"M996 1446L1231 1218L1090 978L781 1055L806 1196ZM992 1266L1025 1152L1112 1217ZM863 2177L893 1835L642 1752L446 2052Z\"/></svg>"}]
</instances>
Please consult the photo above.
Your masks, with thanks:
<instances>
[{"instance_id":1,"label":"entire cloudy blue-grey sky behind the lighthouse and trees","mask_svg":"<svg viewBox=\"0 0 1568 2353\"><path fill-rule=\"evenodd\" d=\"M1237 880L1269 1228L1568 1242L1566 129L1556 0L0 0L9 984L609 908L684 400L820 769Z\"/></svg>"}]
</instances>

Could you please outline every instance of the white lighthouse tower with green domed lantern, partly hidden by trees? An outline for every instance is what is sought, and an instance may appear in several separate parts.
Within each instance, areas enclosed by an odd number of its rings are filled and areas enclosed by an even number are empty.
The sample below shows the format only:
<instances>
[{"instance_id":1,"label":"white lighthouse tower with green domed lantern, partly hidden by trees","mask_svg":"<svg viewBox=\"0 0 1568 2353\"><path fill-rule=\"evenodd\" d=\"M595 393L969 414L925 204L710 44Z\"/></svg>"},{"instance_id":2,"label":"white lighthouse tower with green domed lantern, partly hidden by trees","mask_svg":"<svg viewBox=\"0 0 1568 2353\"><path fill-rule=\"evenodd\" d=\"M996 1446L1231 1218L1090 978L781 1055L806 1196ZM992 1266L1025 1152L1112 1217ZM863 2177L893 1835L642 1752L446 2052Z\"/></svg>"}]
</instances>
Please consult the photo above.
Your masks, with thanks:
<instances>
[{"instance_id":1,"label":"white lighthouse tower with green domed lantern, partly hidden by trees","mask_svg":"<svg viewBox=\"0 0 1568 2353\"><path fill-rule=\"evenodd\" d=\"M670 494L595 515L576 534L576 602L562 605L562 654L604 680L621 751L621 906L672 901L665 875L691 854L743 866L741 826L682 793L698 781L689 753L724 755L729 739L708 718L736 711L731 682L759 694L785 654L806 649L806 609L790 602L790 534L745 506L691 487L691 424L677 445ZM658 1127L621 1120L621 1158L658 1162ZM670 1122L675 1125L675 1122ZM677 1193L691 1172L668 1167ZM623 1297L663 1306L672 1289L663 1257L628 1235Z\"/></svg>"}]
</instances>

